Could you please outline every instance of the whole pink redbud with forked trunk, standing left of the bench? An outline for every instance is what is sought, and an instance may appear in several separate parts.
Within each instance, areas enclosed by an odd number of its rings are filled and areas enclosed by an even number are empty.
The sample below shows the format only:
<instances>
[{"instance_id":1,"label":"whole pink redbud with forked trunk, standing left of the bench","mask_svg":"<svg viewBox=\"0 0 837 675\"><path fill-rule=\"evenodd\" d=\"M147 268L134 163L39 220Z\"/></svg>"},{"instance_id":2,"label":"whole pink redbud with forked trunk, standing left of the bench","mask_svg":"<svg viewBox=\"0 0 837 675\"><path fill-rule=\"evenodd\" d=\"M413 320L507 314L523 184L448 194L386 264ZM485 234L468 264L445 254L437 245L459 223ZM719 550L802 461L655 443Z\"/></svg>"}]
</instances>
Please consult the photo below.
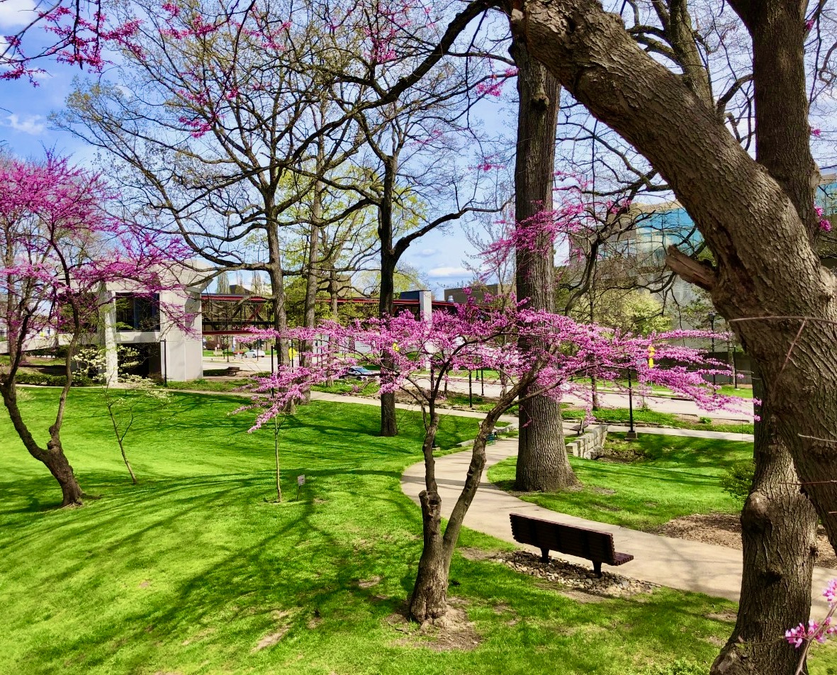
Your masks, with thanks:
<instances>
[{"instance_id":1,"label":"whole pink redbud with forked trunk, standing left of the bench","mask_svg":"<svg viewBox=\"0 0 837 675\"><path fill-rule=\"evenodd\" d=\"M517 338L525 334L526 341ZM275 332L259 332L263 338ZM669 339L689 337L684 332L634 337L574 322L549 312L527 310L516 301L506 307L478 307L475 302L455 312L434 312L421 321L408 312L341 326L326 322L316 329L296 329L285 337L329 340L337 347L311 354L306 368L279 368L257 379L253 401L239 410L259 410L252 430L282 415L288 404L303 399L306 389L347 372L358 363L380 368L380 392L402 391L420 404L424 419L424 490L419 494L424 547L409 603L415 621L434 621L447 611L450 561L460 529L485 467L485 444L500 416L516 401L548 394L556 399L573 393L572 379L595 372L614 380L631 368L639 382L664 384L708 408L732 404L717 396L703 379L706 362L695 349L667 345ZM656 357L676 360L675 368L649 368L648 348ZM526 348L521 348L520 344ZM442 525L442 499L435 476L434 441L439 429L439 403L450 374L459 370L492 368L508 375L511 386L501 394L485 418L471 446L470 466L447 525ZM428 384L429 370L429 384Z\"/></svg>"}]
</instances>

